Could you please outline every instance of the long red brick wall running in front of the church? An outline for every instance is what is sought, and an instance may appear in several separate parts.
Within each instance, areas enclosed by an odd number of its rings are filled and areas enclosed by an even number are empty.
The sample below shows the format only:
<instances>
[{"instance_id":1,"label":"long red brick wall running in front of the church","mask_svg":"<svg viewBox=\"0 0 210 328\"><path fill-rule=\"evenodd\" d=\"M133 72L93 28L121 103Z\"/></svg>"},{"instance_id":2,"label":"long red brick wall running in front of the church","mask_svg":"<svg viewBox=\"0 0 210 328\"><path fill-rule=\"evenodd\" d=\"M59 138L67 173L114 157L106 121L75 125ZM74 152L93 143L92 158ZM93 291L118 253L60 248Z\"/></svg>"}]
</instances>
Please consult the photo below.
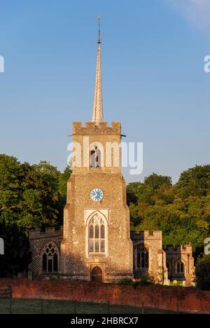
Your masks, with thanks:
<instances>
[{"instance_id":1,"label":"long red brick wall running in front of the church","mask_svg":"<svg viewBox=\"0 0 210 328\"><path fill-rule=\"evenodd\" d=\"M165 286L106 285L85 281L0 280L0 286L12 283L14 298L64 299L110 302L127 306L159 308L190 313L210 313L210 292L195 288Z\"/></svg>"}]
</instances>

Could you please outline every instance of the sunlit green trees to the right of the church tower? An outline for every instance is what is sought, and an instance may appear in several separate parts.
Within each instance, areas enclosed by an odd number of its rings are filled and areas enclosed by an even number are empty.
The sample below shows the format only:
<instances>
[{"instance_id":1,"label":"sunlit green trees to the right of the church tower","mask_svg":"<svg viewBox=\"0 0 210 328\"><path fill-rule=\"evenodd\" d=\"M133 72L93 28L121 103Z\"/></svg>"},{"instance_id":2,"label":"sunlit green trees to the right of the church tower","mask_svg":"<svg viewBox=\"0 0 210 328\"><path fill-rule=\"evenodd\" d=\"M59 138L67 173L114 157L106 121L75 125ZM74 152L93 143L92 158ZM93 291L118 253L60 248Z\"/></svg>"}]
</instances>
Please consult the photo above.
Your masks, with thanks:
<instances>
[{"instance_id":1,"label":"sunlit green trees to the right of the church tower","mask_svg":"<svg viewBox=\"0 0 210 328\"><path fill-rule=\"evenodd\" d=\"M153 173L127 190L133 230L162 230L165 246L191 242L195 255L202 252L210 233L210 165L181 173L174 186Z\"/></svg>"}]
</instances>

